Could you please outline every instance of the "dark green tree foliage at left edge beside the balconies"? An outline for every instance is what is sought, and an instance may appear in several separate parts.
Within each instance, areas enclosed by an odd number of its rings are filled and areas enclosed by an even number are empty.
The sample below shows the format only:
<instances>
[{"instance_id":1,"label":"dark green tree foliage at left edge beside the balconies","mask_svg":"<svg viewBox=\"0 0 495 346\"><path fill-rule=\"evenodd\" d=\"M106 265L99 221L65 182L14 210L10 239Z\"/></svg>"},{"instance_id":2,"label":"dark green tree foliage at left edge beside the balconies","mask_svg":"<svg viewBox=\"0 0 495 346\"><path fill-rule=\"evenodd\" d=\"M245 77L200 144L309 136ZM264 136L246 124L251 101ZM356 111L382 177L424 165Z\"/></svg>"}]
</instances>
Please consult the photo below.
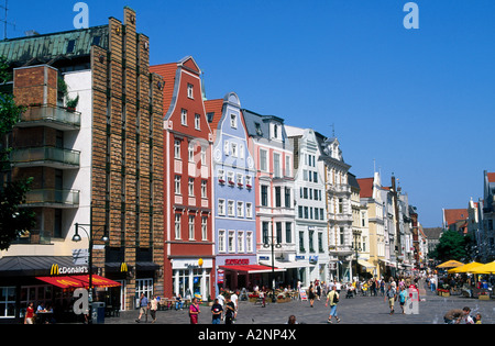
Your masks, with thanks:
<instances>
[{"instance_id":1,"label":"dark green tree foliage at left edge beside the balconies","mask_svg":"<svg viewBox=\"0 0 495 346\"><path fill-rule=\"evenodd\" d=\"M8 64L0 57L0 83L10 80ZM14 97L0 92L0 139L19 122L23 107L16 105ZM0 171L10 169L10 149L0 145ZM32 178L7 181L0 186L0 250L8 249L12 241L34 227L34 212L20 208L25 202Z\"/></svg>"}]
</instances>

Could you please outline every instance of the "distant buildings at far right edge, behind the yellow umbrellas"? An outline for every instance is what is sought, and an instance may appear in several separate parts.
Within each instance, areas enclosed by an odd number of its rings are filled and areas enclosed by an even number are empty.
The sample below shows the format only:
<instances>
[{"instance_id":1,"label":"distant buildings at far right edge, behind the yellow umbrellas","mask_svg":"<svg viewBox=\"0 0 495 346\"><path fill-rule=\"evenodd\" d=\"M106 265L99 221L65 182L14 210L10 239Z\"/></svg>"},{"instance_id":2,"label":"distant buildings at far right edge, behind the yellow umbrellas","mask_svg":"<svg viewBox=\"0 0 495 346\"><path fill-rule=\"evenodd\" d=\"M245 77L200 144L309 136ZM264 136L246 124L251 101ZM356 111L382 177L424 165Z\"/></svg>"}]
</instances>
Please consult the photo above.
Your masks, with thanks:
<instances>
[{"instance_id":1,"label":"distant buildings at far right edge, behind the yellow umbrellas","mask_svg":"<svg viewBox=\"0 0 495 346\"><path fill-rule=\"evenodd\" d=\"M471 199L465 209L443 209L442 228L472 237L472 260L490 263L495 259L495 172L483 171L483 198Z\"/></svg>"}]
</instances>

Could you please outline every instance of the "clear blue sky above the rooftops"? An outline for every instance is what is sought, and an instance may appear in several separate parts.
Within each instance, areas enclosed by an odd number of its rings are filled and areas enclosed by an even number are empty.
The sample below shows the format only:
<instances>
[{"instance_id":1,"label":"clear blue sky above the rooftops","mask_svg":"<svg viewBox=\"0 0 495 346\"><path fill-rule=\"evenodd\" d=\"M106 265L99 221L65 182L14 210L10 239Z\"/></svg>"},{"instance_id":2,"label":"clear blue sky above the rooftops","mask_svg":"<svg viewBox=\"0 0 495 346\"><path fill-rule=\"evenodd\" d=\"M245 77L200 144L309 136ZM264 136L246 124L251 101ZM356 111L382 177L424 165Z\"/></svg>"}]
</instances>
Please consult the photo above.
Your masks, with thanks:
<instances>
[{"instance_id":1,"label":"clear blue sky above the rooftops","mask_svg":"<svg viewBox=\"0 0 495 346\"><path fill-rule=\"evenodd\" d=\"M76 2L10 0L8 36L73 30ZM351 171L372 177L375 159L384 185L395 172L424 226L483 197L495 171L493 0L415 1L419 30L403 25L407 0L85 2L90 26L133 8L151 63L194 56L209 99L235 91L328 136L334 124Z\"/></svg>"}]
</instances>

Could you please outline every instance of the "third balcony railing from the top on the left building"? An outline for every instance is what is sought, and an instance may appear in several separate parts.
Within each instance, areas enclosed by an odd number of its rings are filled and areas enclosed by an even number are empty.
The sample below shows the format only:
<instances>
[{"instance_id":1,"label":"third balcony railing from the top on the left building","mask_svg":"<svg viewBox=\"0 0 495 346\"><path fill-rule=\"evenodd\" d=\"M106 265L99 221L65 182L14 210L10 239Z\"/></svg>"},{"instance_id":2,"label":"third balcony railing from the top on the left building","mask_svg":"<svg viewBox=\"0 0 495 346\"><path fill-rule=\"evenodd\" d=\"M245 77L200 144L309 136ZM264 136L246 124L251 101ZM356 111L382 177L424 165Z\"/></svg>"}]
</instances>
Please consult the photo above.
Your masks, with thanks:
<instances>
[{"instance_id":1,"label":"third balcony railing from the top on the left building","mask_svg":"<svg viewBox=\"0 0 495 346\"><path fill-rule=\"evenodd\" d=\"M79 205L79 191L40 189L31 190L25 194L24 207L77 208Z\"/></svg>"}]
</instances>

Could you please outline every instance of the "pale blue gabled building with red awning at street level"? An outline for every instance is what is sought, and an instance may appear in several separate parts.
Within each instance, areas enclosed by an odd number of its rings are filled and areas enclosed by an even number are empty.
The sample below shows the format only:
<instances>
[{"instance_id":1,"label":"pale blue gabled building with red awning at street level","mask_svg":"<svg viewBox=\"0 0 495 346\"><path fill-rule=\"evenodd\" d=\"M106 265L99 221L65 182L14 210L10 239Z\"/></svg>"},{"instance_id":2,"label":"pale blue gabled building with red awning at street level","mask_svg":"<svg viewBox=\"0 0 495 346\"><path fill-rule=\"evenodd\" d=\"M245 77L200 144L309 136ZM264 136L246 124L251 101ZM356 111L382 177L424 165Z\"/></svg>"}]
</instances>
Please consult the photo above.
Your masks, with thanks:
<instances>
[{"instance_id":1,"label":"pale blue gabled building with red awning at street level","mask_svg":"<svg viewBox=\"0 0 495 346\"><path fill-rule=\"evenodd\" d=\"M205 101L213 131L212 183L217 294L220 288L251 288L258 283L254 159L239 97ZM253 275L254 274L254 275Z\"/></svg>"}]
</instances>

